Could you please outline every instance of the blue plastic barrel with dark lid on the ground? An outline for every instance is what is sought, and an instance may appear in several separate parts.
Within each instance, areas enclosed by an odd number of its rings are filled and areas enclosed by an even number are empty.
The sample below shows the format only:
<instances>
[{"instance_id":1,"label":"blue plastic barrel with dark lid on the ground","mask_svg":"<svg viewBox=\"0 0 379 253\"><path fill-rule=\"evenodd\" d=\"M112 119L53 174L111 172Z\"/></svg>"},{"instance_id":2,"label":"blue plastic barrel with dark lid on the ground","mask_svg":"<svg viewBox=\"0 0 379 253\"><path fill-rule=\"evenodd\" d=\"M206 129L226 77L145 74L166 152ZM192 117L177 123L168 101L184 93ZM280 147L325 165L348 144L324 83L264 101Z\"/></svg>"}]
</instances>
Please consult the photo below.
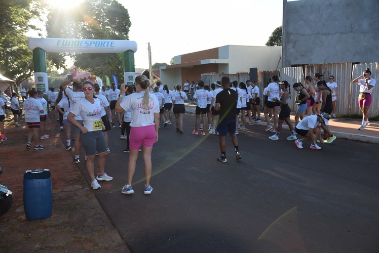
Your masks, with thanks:
<instances>
[{"instance_id":1,"label":"blue plastic barrel with dark lid on the ground","mask_svg":"<svg viewBox=\"0 0 379 253\"><path fill-rule=\"evenodd\" d=\"M50 171L32 170L24 174L24 210L26 219L45 219L53 209Z\"/></svg>"}]
</instances>

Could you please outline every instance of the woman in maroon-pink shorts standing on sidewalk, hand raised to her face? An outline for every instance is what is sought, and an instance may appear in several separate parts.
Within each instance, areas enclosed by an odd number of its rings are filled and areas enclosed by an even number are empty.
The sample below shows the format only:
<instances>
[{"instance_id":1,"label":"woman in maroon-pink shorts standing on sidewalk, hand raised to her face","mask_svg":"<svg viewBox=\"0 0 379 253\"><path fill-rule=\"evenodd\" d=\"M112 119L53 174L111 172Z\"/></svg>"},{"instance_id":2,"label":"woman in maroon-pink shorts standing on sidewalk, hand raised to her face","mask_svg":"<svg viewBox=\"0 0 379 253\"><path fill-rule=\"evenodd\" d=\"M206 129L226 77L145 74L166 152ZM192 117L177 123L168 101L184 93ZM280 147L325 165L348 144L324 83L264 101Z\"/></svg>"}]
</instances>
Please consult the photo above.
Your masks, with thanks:
<instances>
[{"instance_id":1,"label":"woman in maroon-pink shorts standing on sidewalk, hand raised to her face","mask_svg":"<svg viewBox=\"0 0 379 253\"><path fill-rule=\"evenodd\" d=\"M363 77L363 78L362 78ZM353 83L359 85L359 97L358 104L359 108L363 113L362 117L362 125L358 130L364 130L367 125L370 124L368 122L368 109L370 109L371 105L371 93L375 87L375 79L371 77L371 71L369 68L366 68L363 71L363 74L358 76L353 80Z\"/></svg>"}]
</instances>

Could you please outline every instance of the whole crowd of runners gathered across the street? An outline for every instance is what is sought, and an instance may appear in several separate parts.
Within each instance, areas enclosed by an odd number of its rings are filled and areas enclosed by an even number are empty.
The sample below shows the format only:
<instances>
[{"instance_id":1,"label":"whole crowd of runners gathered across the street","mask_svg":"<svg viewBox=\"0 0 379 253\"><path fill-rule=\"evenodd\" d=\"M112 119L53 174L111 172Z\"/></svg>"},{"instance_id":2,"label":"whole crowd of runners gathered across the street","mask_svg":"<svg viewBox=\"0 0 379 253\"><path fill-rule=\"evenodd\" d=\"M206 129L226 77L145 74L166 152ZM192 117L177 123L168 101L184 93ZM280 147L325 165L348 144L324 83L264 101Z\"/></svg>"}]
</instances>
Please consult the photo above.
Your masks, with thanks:
<instances>
[{"instance_id":1,"label":"whole crowd of runners gathered across the street","mask_svg":"<svg viewBox=\"0 0 379 253\"><path fill-rule=\"evenodd\" d=\"M315 80L315 85L313 84ZM273 75L267 83L260 100L260 92L254 80L245 82L230 81L222 77L220 81L205 84L198 80L197 84L189 84L185 80L183 87L178 83L170 90L161 81L150 83L144 75L137 75L134 85L125 84L111 86L107 89L89 80L66 80L62 82L59 91L50 88L44 98L42 91L29 89L23 97L23 110L18 101L18 94L11 94L11 111L14 123L20 126L20 118L24 115L28 127L26 148L42 150L41 140L48 139L45 134L45 122L50 111L51 119L59 121L60 131L65 132L66 150L73 149L74 163L81 162L81 147L85 151L87 171L91 177L91 187L98 189L98 181L109 181L113 178L105 173L105 159L111 151L107 131L111 128L120 129L120 139L126 140L129 153L127 184L122 193L131 194L132 179L135 172L138 153L143 152L146 184L144 194L150 194L151 152L154 143L158 141L159 128L167 128L173 124L175 117L176 132L184 134L183 117L185 102L196 103L196 119L193 135L218 135L221 156L218 161L226 162L225 136L230 135L235 148L236 159L242 158L238 148L238 130L245 130L248 125L261 121L260 104L263 105L264 120L267 132L272 132L270 140L279 140L283 123L289 127L287 140L295 141L297 148L302 149L305 141L311 141L311 149L321 149L320 143L331 143L336 137L328 129L329 120L335 117L337 101L337 83L334 76L329 76L329 82L322 79L322 74L316 73L313 78L306 76L304 83L293 83L295 94L291 95L291 85L286 80L280 80ZM363 112L362 125L364 130L369 124L367 112L371 102L371 92L375 79L366 69L363 74L353 80L360 86L359 106ZM23 94L22 94L23 95ZM295 114L295 125L290 120L288 103L294 96L298 105ZM8 113L4 95L0 92L0 130L2 141L7 141L4 130L5 118L11 118ZM323 134L322 131L323 130ZM297 135L297 136L296 136ZM298 137L301 136L301 137ZM300 138L300 139L299 139ZM74 140L72 147L71 140ZM98 173L94 173L94 160L98 156Z\"/></svg>"}]
</instances>

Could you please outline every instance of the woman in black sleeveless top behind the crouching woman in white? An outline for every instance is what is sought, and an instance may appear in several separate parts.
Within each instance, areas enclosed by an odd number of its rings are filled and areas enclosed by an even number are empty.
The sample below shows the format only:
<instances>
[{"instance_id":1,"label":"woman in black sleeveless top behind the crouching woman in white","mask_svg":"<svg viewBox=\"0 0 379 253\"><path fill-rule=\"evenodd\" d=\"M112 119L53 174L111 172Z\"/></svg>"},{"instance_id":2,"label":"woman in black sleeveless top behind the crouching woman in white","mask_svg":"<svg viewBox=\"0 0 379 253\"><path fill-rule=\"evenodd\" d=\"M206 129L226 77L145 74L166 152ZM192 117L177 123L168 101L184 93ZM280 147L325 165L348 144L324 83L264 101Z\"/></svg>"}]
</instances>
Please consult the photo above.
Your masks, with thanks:
<instances>
[{"instance_id":1,"label":"woman in black sleeveless top behind the crouching woman in white","mask_svg":"<svg viewBox=\"0 0 379 253\"><path fill-rule=\"evenodd\" d=\"M324 80L317 82L317 88L320 90L322 100L321 112L325 112L330 115L333 111L332 93ZM330 133L327 124L321 125L321 128L324 130L324 142L328 144L332 143L336 137Z\"/></svg>"}]
</instances>

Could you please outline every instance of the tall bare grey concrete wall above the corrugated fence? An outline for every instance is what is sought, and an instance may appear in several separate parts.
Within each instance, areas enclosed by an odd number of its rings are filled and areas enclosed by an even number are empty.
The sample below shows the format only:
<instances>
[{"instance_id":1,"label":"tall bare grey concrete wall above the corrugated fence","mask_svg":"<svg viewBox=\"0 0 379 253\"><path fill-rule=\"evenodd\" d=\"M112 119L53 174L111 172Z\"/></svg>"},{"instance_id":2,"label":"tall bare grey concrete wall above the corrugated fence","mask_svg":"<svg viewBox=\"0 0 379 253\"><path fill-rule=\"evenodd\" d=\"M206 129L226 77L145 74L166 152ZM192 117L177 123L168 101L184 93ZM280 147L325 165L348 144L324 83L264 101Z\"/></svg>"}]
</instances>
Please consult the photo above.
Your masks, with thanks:
<instances>
[{"instance_id":1,"label":"tall bare grey concrete wall above the corrugated fence","mask_svg":"<svg viewBox=\"0 0 379 253\"><path fill-rule=\"evenodd\" d=\"M282 67L379 60L379 0L283 0Z\"/></svg>"}]
</instances>

